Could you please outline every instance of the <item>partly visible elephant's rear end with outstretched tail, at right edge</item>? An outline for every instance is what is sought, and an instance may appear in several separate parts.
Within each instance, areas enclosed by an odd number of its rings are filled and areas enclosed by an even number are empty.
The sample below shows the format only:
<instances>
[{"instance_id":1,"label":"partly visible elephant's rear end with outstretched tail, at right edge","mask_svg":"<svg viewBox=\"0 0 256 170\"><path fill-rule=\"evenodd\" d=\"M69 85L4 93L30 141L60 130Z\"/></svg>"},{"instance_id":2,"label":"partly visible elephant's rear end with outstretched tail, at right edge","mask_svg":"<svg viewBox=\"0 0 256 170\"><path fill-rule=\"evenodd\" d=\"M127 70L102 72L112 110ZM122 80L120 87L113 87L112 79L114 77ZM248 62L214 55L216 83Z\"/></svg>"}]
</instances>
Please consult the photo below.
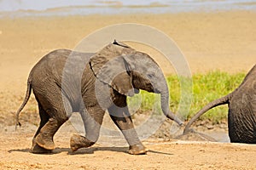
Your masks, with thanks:
<instances>
[{"instance_id":1,"label":"partly visible elephant's rear end with outstretched tail, at right edge","mask_svg":"<svg viewBox=\"0 0 256 170\"><path fill-rule=\"evenodd\" d=\"M230 142L256 144L256 65L247 73L234 92L206 105L191 118L183 133L198 117L218 105L229 105L228 125Z\"/></svg>"}]
</instances>

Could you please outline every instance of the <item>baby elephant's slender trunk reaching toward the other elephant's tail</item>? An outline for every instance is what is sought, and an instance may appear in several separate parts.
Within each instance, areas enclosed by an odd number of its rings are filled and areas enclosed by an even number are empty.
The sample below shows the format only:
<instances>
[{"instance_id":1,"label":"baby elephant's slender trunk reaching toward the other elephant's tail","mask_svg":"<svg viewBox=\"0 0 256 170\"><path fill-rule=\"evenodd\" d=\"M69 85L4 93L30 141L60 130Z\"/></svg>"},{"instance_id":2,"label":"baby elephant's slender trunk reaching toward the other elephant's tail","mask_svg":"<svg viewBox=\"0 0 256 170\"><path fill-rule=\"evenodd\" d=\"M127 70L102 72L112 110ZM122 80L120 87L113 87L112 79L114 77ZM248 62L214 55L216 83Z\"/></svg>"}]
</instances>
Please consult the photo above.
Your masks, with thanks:
<instances>
[{"instance_id":1,"label":"baby elephant's slender trunk reaching toward the other elephant's tail","mask_svg":"<svg viewBox=\"0 0 256 170\"><path fill-rule=\"evenodd\" d=\"M161 97L160 97L160 102L161 102L161 109L163 111L163 113L172 121L177 122L178 125L183 125L183 122L177 117L175 116L172 111L170 111L169 108L169 91L168 88L167 90L165 90L165 92L160 93Z\"/></svg>"}]
</instances>

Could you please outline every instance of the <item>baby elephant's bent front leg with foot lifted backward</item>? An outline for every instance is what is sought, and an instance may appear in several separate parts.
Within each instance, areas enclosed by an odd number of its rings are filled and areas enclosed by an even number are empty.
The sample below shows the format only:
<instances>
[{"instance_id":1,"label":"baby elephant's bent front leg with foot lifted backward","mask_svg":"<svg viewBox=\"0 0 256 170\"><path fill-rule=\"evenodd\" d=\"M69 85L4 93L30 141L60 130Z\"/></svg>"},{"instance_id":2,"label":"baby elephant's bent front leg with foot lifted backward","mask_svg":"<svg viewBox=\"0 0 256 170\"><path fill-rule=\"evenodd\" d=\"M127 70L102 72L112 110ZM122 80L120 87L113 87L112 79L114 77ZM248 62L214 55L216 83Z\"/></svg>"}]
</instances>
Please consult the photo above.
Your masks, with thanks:
<instances>
[{"instance_id":1,"label":"baby elephant's bent front leg with foot lifted backward","mask_svg":"<svg viewBox=\"0 0 256 170\"><path fill-rule=\"evenodd\" d=\"M102 120L105 111L100 105L89 107L80 112L84 122L85 137L74 134L70 139L71 150L79 150L79 148L87 148L95 144L99 138Z\"/></svg>"}]
</instances>

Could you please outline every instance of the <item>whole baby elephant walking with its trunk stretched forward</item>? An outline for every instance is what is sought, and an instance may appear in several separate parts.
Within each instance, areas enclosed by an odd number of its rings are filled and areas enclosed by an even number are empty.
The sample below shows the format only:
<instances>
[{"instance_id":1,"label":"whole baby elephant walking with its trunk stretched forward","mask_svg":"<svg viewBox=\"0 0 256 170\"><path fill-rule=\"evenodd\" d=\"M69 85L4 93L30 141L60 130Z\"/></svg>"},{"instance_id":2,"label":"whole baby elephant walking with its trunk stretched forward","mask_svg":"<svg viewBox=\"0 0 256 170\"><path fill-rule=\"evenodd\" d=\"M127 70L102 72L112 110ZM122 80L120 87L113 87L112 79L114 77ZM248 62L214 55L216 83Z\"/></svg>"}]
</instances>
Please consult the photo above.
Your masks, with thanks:
<instances>
[{"instance_id":1,"label":"whole baby elephant walking with its trunk stretched forward","mask_svg":"<svg viewBox=\"0 0 256 170\"><path fill-rule=\"evenodd\" d=\"M17 111L16 121L20 124L19 113L33 91L41 122L32 139L32 152L44 153L55 149L56 131L73 112L79 112L84 121L85 137L73 135L70 145L75 151L96 143L102 118L108 110L130 145L129 153L144 154L146 149L133 127L126 103L126 97L138 93L139 89L160 94L164 114L183 124L169 110L165 77L148 54L115 41L96 54L55 50L32 68L26 99Z\"/></svg>"}]
</instances>

